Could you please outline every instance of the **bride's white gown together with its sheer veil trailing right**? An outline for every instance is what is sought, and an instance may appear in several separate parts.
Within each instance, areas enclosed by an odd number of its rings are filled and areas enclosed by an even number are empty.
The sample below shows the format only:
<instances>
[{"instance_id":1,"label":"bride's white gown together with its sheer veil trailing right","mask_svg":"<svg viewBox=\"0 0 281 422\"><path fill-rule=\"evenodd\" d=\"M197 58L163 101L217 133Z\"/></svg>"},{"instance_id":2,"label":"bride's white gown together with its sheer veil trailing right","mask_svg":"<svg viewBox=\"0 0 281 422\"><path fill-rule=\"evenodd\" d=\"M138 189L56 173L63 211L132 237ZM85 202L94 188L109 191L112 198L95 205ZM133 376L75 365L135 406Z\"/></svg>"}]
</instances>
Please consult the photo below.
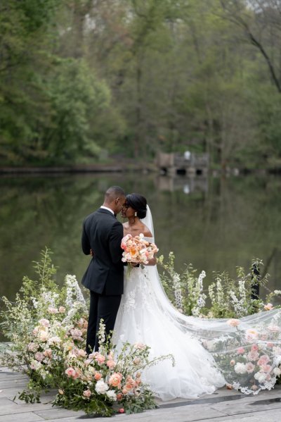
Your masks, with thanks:
<instances>
[{"instance_id":1,"label":"bride's white gown together with its sheer veil trailing right","mask_svg":"<svg viewBox=\"0 0 281 422\"><path fill-rule=\"evenodd\" d=\"M154 235L149 207L143 223ZM258 394L273 388L281 373L280 309L240 320L185 316L166 297L157 266L130 273L125 268L113 342L118 350L125 341L150 346L152 359L174 355L175 366L164 360L143 373L163 400L211 394L226 383L245 394Z\"/></svg>"}]
</instances>

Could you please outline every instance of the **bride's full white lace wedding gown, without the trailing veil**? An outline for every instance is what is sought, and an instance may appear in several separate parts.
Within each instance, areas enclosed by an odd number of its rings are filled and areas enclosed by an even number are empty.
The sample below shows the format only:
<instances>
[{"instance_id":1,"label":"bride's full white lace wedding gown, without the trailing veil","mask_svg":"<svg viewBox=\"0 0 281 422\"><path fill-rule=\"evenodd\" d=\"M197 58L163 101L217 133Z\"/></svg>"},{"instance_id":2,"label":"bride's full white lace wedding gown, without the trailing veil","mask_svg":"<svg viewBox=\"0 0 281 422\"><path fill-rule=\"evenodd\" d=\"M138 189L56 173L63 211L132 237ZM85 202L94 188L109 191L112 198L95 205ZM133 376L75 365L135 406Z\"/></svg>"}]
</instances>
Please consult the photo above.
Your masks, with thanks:
<instances>
[{"instance_id":1,"label":"bride's full white lace wedding gown, without the trailing veil","mask_svg":"<svg viewBox=\"0 0 281 422\"><path fill-rule=\"evenodd\" d=\"M143 223L153 232L148 214ZM148 238L154 242L152 238ZM159 282L156 266L125 268L124 294L117 314L113 342L141 342L150 346L151 358L173 354L144 372L143 378L163 400L211 394L225 384L209 352L183 328L182 315L174 309ZM184 322L186 327L186 323Z\"/></svg>"}]
</instances>

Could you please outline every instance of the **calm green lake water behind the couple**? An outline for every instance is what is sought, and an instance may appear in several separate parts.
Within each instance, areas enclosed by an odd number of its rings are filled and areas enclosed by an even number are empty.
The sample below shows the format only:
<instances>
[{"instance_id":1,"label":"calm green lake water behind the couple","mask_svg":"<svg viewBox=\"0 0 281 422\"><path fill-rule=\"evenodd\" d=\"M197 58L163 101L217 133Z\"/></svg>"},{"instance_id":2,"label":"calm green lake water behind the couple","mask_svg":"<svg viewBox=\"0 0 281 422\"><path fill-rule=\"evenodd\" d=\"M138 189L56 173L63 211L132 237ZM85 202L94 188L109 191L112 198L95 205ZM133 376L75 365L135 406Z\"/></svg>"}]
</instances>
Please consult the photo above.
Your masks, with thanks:
<instances>
[{"instance_id":1,"label":"calm green lake water behind the couple","mask_svg":"<svg viewBox=\"0 0 281 422\"><path fill-rule=\"evenodd\" d=\"M235 274L263 259L270 288L280 288L281 178L168 178L138 173L15 175L0 178L0 296L13 299L22 276L45 246L59 266L58 280L81 280L89 256L81 252L85 216L103 203L110 185L144 194L150 204L159 253L176 254L176 268ZM121 218L120 218L121 220Z\"/></svg>"}]
</instances>

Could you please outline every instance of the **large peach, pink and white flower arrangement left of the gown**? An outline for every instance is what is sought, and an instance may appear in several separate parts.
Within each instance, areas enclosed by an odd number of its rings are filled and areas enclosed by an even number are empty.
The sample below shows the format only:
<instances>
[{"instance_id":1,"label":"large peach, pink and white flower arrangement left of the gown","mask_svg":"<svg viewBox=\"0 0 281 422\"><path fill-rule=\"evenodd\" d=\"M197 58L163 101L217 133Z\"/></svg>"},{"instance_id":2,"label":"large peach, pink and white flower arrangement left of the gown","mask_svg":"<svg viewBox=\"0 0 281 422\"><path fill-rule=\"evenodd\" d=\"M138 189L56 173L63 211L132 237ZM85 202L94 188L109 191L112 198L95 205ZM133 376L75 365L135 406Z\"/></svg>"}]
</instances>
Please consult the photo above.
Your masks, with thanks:
<instances>
[{"instance_id":1,"label":"large peach, pink and white flower arrangement left of the gown","mask_svg":"<svg viewBox=\"0 0 281 422\"><path fill-rule=\"evenodd\" d=\"M151 361L149 347L127 342L117 351L105 337L103 323L98 333L100 349L88 356L88 312L75 276L67 275L59 287L48 249L35 269L39 280L25 277L15 302L4 298L6 311L1 312L1 327L11 340L1 361L30 378L19 398L39 402L42 390L55 389L53 404L103 416L154 408L141 371L172 356Z\"/></svg>"}]
</instances>

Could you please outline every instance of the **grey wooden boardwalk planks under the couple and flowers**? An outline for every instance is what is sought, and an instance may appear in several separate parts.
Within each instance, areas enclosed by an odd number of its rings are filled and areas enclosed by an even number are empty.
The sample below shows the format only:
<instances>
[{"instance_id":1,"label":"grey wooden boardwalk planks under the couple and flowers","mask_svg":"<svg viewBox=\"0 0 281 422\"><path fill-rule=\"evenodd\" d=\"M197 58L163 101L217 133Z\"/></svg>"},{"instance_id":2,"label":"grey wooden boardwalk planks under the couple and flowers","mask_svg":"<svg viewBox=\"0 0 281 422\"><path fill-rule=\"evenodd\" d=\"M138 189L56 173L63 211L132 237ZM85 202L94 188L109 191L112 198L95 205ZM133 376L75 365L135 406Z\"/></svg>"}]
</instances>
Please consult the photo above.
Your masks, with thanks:
<instances>
[{"instance_id":1,"label":"grey wooden boardwalk planks under the couple and flowers","mask_svg":"<svg viewBox=\"0 0 281 422\"><path fill-rule=\"evenodd\" d=\"M0 422L72 422L105 421L105 418L86 416L82 411L68 411L52 407L53 394L43 395L41 403L25 404L15 395L25 388L27 377L0 367ZM200 399L178 399L159 402L159 408L142 414L117 415L117 422L280 422L281 385L257 396L245 396L233 390L220 389Z\"/></svg>"}]
</instances>

